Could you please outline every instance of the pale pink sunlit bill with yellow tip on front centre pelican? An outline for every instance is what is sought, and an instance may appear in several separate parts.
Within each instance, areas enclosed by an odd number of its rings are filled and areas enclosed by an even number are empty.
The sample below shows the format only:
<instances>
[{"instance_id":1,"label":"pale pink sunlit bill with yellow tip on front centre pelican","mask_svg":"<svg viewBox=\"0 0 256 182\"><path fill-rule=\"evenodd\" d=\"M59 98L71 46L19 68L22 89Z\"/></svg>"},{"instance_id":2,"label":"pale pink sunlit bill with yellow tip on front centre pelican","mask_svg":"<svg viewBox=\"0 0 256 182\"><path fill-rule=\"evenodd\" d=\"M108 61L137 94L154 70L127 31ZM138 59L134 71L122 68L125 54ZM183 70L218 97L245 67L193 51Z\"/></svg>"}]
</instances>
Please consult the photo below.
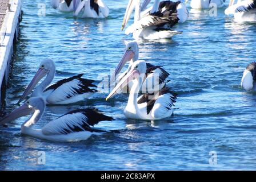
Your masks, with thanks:
<instances>
[{"instance_id":1,"label":"pale pink sunlit bill with yellow tip on front centre pelican","mask_svg":"<svg viewBox=\"0 0 256 182\"><path fill-rule=\"evenodd\" d=\"M110 97L114 96L119 89L123 89L130 81L133 81L135 78L139 77L139 71L137 69L131 69L129 73L115 86L115 88L110 92L109 96L107 96L106 101L109 100Z\"/></svg>"}]
</instances>

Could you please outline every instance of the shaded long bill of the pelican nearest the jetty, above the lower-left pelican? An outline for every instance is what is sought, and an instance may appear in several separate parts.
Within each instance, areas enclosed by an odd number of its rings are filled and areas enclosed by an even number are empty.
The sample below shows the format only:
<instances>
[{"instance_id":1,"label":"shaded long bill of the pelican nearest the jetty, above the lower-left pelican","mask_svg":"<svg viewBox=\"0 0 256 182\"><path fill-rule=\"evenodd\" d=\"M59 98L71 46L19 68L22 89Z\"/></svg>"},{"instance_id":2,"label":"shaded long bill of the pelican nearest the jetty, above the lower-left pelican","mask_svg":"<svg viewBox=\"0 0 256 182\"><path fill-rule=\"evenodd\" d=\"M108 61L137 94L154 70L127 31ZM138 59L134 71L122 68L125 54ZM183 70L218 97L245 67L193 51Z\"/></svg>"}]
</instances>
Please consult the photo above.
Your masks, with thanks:
<instances>
[{"instance_id":1,"label":"shaded long bill of the pelican nearest the jetty, above the lower-left pelican","mask_svg":"<svg viewBox=\"0 0 256 182\"><path fill-rule=\"evenodd\" d=\"M19 99L18 103L19 104L21 101L25 100L25 98L31 93L31 91L35 88L35 85L37 85L37 83L47 75L49 71L47 71L46 69L42 69L39 68L37 73L35 73L34 78L32 79L32 81L30 82L30 84L27 86L27 89L25 90L25 92L23 93L23 95L21 96L21 98Z\"/></svg>"}]
</instances>

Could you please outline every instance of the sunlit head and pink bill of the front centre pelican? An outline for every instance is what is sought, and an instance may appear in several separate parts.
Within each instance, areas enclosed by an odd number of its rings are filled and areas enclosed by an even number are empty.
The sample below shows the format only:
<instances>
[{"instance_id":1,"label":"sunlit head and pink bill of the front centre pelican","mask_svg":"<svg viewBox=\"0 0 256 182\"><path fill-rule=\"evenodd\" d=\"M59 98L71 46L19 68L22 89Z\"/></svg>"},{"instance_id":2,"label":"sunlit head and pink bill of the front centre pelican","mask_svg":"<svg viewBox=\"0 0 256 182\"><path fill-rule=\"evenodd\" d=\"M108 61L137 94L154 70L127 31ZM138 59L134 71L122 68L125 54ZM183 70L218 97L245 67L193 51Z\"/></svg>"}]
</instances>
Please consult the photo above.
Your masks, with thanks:
<instances>
[{"instance_id":1,"label":"sunlit head and pink bill of the front centre pelican","mask_svg":"<svg viewBox=\"0 0 256 182\"><path fill-rule=\"evenodd\" d=\"M114 96L116 93L118 93L119 90L122 90L123 88L125 88L125 86L127 84L129 84L129 82L138 79L139 77L144 77L145 73L146 73L146 62L145 61L135 61L133 63L133 65L131 66L130 71L127 73L127 75L125 77L122 78L121 81L119 81L119 83L117 84L117 86L115 86L115 88L110 92L109 96L107 96L106 101Z\"/></svg>"}]
</instances>

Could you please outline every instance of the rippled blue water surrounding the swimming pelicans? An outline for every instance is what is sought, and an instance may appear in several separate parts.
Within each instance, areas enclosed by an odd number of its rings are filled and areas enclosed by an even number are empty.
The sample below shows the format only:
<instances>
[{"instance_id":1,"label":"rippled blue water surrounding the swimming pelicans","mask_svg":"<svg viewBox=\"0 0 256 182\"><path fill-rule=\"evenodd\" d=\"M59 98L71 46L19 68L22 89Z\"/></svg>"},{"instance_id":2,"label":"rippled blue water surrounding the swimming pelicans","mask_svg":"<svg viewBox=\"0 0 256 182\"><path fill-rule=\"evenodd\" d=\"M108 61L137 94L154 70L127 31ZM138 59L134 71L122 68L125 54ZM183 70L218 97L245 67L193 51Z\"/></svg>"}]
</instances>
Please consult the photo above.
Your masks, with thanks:
<instances>
[{"instance_id":1,"label":"rippled blue water surrounding the swimming pelicans","mask_svg":"<svg viewBox=\"0 0 256 182\"><path fill-rule=\"evenodd\" d=\"M39 17L38 3L46 4ZM97 80L121 59L124 43L132 40L121 31L126 1L106 1L107 19L74 19L72 13L51 9L50 0L23 0L23 20L14 54L13 74L4 113L15 109L25 86L42 59L53 59L55 81L77 73ZM173 40L140 40L140 58L163 65L171 88L179 94L175 115L161 121L126 119L127 96L109 102L107 93L71 106L51 106L38 128L67 111L94 106L115 118L97 127L121 134L91 137L82 142L58 143L23 136L25 117L0 126L0 169L256 169L256 94L240 85L243 69L255 61L256 26L235 23L219 9L192 12L175 27L183 31ZM38 151L46 164L38 164ZM217 154L209 163L209 152Z\"/></svg>"}]
</instances>

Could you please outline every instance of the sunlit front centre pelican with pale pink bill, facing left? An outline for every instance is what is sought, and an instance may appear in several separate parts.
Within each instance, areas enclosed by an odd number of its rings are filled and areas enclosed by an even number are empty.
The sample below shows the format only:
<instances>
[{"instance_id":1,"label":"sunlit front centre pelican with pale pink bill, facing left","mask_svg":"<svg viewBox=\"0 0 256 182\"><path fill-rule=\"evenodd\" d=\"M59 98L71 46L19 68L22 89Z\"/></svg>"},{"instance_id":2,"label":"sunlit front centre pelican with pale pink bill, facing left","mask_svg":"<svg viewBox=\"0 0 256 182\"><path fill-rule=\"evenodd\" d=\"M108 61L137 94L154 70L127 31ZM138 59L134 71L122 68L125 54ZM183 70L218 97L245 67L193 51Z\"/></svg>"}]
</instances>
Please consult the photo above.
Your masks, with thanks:
<instances>
[{"instance_id":1,"label":"sunlit front centre pelican with pale pink bill, facing left","mask_svg":"<svg viewBox=\"0 0 256 182\"><path fill-rule=\"evenodd\" d=\"M170 117L173 115L173 106L177 94L171 92L169 88L165 87L153 94L143 94L138 98L138 92L142 85L141 80L145 76L146 69L145 61L135 61L129 73L115 86L106 100L126 86L128 82L133 81L124 111L127 118L157 120Z\"/></svg>"}]
</instances>

